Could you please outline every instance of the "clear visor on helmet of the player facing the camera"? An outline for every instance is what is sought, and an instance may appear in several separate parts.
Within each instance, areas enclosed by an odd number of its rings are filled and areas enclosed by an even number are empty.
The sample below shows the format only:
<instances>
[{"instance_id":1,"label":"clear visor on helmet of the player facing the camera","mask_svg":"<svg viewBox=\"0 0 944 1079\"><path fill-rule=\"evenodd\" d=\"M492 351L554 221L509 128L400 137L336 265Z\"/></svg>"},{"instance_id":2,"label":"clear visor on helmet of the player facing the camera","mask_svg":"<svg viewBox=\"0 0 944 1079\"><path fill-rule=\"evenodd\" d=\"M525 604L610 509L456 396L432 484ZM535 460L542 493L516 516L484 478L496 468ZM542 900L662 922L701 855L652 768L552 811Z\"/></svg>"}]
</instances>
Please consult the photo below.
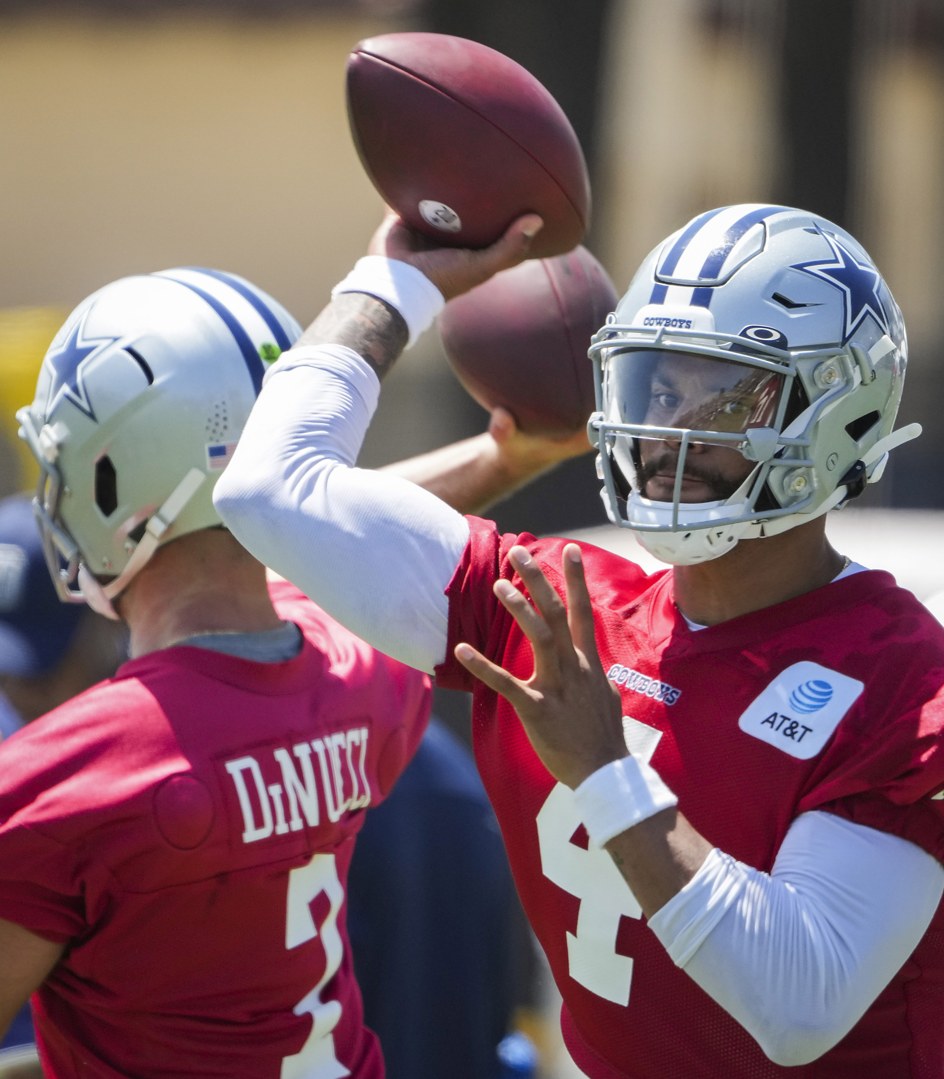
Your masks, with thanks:
<instances>
[{"instance_id":1,"label":"clear visor on helmet of the player facing the camera","mask_svg":"<svg viewBox=\"0 0 944 1079\"><path fill-rule=\"evenodd\" d=\"M605 413L616 423L698 432L693 441L710 442L712 432L772 427L783 384L783 374L734 359L637 349L607 363Z\"/></svg>"}]
</instances>

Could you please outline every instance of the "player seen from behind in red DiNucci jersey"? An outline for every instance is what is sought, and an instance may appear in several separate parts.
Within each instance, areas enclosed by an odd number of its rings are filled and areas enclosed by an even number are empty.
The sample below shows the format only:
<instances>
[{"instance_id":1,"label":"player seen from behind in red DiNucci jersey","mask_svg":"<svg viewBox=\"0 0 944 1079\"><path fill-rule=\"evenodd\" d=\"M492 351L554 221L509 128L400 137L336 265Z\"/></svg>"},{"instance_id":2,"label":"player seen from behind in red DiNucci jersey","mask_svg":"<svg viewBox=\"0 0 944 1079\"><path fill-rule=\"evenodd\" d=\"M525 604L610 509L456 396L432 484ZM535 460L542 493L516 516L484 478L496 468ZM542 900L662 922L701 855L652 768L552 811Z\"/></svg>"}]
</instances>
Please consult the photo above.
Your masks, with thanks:
<instances>
[{"instance_id":1,"label":"player seen from behind in red DiNucci jersey","mask_svg":"<svg viewBox=\"0 0 944 1079\"><path fill-rule=\"evenodd\" d=\"M39 988L51 1079L383 1075L344 884L429 682L266 586L211 501L300 332L231 274L125 278L69 316L19 412L60 597L132 642L113 679L0 748L0 1034ZM456 451L457 504L582 449L511 427Z\"/></svg>"}]
</instances>

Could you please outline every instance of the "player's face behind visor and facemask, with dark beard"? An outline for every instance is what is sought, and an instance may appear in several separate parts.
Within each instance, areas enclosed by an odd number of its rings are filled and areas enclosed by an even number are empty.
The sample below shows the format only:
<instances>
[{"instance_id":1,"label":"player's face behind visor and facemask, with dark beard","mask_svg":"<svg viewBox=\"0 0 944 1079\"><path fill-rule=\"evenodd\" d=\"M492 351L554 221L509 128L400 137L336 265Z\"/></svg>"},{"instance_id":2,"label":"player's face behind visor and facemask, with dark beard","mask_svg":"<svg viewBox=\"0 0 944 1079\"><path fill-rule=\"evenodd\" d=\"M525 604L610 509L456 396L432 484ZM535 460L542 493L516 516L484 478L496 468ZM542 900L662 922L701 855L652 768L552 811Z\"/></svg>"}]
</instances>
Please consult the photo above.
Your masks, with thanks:
<instances>
[{"instance_id":1,"label":"player's face behind visor and facemask, with dark beard","mask_svg":"<svg viewBox=\"0 0 944 1079\"><path fill-rule=\"evenodd\" d=\"M682 463L680 501L723 502L756 467L713 434L767 427L777 414L782 375L684 352L632 350L615 356L611 392L630 423L676 437L625 439L632 488L653 502L671 502ZM683 434L690 432L682 461Z\"/></svg>"}]
</instances>

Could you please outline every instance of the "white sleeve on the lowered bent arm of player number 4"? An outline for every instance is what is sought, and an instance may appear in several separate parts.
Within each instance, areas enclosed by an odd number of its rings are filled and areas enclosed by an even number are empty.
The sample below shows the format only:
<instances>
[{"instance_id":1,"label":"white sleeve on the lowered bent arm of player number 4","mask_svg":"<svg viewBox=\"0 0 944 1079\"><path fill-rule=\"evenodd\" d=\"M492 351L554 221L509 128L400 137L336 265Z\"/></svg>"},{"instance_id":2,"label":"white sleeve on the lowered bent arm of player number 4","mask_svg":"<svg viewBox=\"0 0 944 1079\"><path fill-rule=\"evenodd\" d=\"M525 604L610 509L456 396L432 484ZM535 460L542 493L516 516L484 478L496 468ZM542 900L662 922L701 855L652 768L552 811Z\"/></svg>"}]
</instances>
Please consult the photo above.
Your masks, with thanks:
<instances>
[{"instance_id":1,"label":"white sleeve on the lowered bent arm of player number 4","mask_svg":"<svg viewBox=\"0 0 944 1079\"><path fill-rule=\"evenodd\" d=\"M777 1064L808 1064L861 1019L944 893L920 847L827 812L791 825L770 874L714 849L649 918L669 955Z\"/></svg>"}]
</instances>

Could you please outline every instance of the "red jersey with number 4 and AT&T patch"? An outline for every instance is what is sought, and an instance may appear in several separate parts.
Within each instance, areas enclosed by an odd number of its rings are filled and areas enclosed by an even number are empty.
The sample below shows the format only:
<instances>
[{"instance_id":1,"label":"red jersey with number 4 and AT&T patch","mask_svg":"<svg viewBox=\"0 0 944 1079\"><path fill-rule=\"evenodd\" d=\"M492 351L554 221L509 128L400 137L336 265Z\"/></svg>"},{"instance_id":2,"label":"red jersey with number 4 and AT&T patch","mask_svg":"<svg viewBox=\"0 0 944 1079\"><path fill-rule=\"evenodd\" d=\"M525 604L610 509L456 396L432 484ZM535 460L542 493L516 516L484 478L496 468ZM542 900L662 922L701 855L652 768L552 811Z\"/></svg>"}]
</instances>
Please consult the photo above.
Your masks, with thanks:
<instances>
[{"instance_id":1,"label":"red jersey with number 4 and AT&T patch","mask_svg":"<svg viewBox=\"0 0 944 1079\"><path fill-rule=\"evenodd\" d=\"M498 536L469 520L439 684L474 689L479 769L518 890L564 999L564 1038L591 1079L941 1079L944 915L857 1026L801 1067L771 1063L647 928L605 850L589 850L511 707L452 658L467 641L511 673L531 645L492 592L521 587L525 546L563 595L562 540ZM692 631L670 572L584 548L597 643L619 687L627 743L651 759L712 844L769 872L791 822L825 810L944 858L944 629L886 573L859 573ZM880 927L876 927L880 931Z\"/></svg>"}]
</instances>

